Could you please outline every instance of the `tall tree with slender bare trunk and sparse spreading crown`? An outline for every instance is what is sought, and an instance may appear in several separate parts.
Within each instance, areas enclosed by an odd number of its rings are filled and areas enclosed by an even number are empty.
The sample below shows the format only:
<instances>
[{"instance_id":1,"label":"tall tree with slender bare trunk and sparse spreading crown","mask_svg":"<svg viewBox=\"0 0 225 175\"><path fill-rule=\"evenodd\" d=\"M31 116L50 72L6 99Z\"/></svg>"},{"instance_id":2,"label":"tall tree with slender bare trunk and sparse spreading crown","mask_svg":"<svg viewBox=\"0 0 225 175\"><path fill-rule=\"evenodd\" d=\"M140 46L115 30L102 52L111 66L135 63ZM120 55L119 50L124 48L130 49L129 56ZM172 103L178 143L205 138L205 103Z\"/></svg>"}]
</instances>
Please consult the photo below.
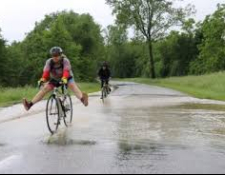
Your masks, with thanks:
<instances>
[{"instance_id":1,"label":"tall tree with slender bare trunk and sparse spreading crown","mask_svg":"<svg viewBox=\"0 0 225 175\"><path fill-rule=\"evenodd\" d=\"M182 21L186 10L173 7L170 0L106 0L117 15L117 22L134 26L146 39L149 51L151 77L156 78L153 42L164 37L166 31L178 21Z\"/></svg>"}]
</instances>

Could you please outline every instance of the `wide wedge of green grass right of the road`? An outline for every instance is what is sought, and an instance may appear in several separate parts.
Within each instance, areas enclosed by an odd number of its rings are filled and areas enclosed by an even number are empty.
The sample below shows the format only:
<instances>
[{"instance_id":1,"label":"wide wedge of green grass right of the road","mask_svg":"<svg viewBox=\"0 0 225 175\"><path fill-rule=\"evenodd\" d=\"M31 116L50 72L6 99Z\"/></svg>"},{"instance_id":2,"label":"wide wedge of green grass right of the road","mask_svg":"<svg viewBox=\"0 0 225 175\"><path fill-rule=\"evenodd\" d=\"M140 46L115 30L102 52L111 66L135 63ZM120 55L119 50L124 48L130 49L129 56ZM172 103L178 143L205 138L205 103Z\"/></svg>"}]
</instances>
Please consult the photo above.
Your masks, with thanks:
<instances>
[{"instance_id":1,"label":"wide wedge of green grass right of the road","mask_svg":"<svg viewBox=\"0 0 225 175\"><path fill-rule=\"evenodd\" d=\"M167 87L197 98L225 101L225 72L156 80L147 78L123 79L123 81L125 80Z\"/></svg>"}]
</instances>

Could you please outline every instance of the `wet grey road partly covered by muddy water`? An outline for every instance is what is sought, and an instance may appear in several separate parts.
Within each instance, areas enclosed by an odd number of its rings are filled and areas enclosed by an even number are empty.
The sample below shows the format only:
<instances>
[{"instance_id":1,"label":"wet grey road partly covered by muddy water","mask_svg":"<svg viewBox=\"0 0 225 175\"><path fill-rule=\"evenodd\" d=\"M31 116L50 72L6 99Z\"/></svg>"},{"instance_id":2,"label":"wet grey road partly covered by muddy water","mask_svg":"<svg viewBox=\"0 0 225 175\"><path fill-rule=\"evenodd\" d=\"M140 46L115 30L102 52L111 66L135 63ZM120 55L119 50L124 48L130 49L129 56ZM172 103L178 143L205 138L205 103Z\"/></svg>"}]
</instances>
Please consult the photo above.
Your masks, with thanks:
<instances>
[{"instance_id":1,"label":"wet grey road partly covered by muddy water","mask_svg":"<svg viewBox=\"0 0 225 175\"><path fill-rule=\"evenodd\" d=\"M225 111L204 107L224 103L117 85L105 104L74 99L73 125L54 136L45 102L30 113L1 109L0 173L225 173Z\"/></svg>"}]
</instances>

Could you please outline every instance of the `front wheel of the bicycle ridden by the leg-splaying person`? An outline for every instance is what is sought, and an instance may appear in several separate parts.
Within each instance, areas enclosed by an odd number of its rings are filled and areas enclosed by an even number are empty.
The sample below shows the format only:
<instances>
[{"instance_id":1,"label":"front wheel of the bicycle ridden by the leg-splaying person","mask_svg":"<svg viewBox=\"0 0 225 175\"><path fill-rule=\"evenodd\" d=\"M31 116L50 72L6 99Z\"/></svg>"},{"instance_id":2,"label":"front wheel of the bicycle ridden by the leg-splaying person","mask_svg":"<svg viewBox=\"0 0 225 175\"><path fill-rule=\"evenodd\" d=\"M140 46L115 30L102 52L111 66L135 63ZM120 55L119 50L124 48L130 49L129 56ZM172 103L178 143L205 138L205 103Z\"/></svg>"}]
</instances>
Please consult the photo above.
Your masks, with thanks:
<instances>
[{"instance_id":1,"label":"front wheel of the bicycle ridden by the leg-splaying person","mask_svg":"<svg viewBox=\"0 0 225 175\"><path fill-rule=\"evenodd\" d=\"M60 108L54 95L50 96L46 107L47 126L51 134L55 134L60 125Z\"/></svg>"}]
</instances>

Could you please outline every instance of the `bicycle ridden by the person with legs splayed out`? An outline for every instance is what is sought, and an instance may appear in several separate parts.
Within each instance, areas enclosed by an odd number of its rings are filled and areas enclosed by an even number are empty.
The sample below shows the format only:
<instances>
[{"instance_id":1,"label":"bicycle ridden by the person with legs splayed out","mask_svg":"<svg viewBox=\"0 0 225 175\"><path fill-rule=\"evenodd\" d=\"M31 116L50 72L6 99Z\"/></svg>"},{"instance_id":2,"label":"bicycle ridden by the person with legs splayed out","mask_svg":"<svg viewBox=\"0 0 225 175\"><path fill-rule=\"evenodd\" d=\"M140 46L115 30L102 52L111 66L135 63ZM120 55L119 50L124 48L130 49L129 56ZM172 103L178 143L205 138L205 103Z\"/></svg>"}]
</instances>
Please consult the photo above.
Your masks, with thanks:
<instances>
[{"instance_id":1,"label":"bicycle ridden by the person with legs splayed out","mask_svg":"<svg viewBox=\"0 0 225 175\"><path fill-rule=\"evenodd\" d=\"M73 120L73 103L67 86L54 88L46 107L47 126L51 134L55 134L62 122L68 127Z\"/></svg>"}]
</instances>

